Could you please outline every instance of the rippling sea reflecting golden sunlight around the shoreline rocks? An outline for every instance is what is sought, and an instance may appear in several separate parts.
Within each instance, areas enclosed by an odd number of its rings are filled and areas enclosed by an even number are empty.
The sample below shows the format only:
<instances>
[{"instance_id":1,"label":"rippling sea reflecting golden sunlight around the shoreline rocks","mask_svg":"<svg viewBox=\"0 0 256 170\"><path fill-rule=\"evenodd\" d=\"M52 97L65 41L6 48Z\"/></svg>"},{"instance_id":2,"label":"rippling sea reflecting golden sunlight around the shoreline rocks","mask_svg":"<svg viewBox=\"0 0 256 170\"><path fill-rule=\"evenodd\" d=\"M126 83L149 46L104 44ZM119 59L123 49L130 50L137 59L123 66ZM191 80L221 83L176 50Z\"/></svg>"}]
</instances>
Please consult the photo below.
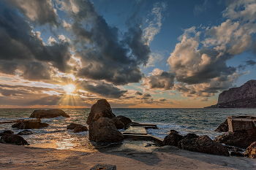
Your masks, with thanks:
<instances>
[{"instance_id":1,"label":"rippling sea reflecting golden sunlight around the shoreline rocks","mask_svg":"<svg viewBox=\"0 0 256 170\"><path fill-rule=\"evenodd\" d=\"M35 109L0 109L0 123L17 119L30 119ZM48 123L46 128L30 129L33 134L24 135L31 147L56 148L59 150L83 150L90 152L97 143L89 141L89 132L73 133L67 130L70 123L86 125L91 109L62 109L69 115L42 119ZM176 130L181 135L194 133L199 136L208 135L215 139L222 133L214 131L229 115L254 115L256 109L128 109L113 108L113 113L129 117L134 122L154 123L158 129L147 129L148 134L164 139L170 130ZM22 131L12 128L12 124L0 124L0 131L12 130L15 134ZM124 130L120 130L124 131ZM124 142L126 142L124 140Z\"/></svg>"}]
</instances>

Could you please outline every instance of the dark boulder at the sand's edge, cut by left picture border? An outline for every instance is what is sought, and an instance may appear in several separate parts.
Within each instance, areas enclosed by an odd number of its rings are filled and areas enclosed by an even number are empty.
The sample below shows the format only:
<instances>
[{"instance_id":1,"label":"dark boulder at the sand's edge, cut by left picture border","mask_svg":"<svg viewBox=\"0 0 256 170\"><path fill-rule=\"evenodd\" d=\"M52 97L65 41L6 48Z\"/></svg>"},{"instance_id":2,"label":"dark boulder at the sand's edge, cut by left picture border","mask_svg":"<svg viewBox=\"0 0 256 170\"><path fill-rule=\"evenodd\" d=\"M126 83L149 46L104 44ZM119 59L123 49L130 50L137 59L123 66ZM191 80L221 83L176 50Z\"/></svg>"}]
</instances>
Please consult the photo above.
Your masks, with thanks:
<instances>
[{"instance_id":1,"label":"dark boulder at the sand's edge, cut by left picture border","mask_svg":"<svg viewBox=\"0 0 256 170\"><path fill-rule=\"evenodd\" d=\"M6 134L1 136L1 142L5 144L29 145L29 143L18 134Z\"/></svg>"}]
</instances>

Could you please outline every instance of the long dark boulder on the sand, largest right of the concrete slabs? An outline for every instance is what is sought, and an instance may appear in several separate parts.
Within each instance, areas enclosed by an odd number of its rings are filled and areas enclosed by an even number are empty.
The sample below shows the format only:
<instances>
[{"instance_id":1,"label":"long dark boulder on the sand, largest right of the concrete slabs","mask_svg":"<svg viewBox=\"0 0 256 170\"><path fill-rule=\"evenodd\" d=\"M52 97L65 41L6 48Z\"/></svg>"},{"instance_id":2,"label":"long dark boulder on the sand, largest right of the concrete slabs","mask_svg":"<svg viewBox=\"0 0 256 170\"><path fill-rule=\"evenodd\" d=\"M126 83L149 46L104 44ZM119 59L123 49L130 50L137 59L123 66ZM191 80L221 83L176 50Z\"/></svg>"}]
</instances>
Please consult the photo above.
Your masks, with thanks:
<instances>
[{"instance_id":1,"label":"long dark boulder on the sand, largest right of the concrete slabs","mask_svg":"<svg viewBox=\"0 0 256 170\"><path fill-rule=\"evenodd\" d=\"M213 155L229 155L227 147L223 146L219 142L214 142L207 135L193 139L182 139L178 142L178 148Z\"/></svg>"}]
</instances>

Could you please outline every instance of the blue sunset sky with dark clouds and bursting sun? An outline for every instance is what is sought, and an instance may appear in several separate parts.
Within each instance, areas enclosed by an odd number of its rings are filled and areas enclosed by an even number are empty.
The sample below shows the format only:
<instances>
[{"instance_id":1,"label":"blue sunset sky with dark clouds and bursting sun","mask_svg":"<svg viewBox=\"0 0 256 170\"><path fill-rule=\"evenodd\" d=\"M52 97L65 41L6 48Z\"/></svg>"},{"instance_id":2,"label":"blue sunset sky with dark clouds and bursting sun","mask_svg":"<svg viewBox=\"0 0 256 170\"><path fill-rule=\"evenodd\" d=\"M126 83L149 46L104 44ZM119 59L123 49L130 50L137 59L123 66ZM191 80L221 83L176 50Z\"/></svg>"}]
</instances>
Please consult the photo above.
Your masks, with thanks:
<instances>
[{"instance_id":1,"label":"blue sunset sky with dark clouds and bursting sun","mask_svg":"<svg viewBox=\"0 0 256 170\"><path fill-rule=\"evenodd\" d=\"M202 108L254 80L255 0L1 0L0 108Z\"/></svg>"}]
</instances>

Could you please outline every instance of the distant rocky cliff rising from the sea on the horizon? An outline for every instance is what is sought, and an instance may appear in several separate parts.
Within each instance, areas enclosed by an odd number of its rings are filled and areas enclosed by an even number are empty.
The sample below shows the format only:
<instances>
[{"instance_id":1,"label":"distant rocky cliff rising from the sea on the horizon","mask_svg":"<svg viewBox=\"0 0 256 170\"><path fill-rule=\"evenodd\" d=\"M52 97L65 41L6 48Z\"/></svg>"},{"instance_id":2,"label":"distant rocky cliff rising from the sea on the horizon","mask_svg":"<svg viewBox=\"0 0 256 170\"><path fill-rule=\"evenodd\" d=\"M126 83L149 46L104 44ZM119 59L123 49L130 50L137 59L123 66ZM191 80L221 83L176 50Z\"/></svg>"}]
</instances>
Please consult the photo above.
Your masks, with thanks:
<instances>
[{"instance_id":1,"label":"distant rocky cliff rising from the sea on the horizon","mask_svg":"<svg viewBox=\"0 0 256 170\"><path fill-rule=\"evenodd\" d=\"M218 103L207 108L256 108L256 80L219 94Z\"/></svg>"}]
</instances>

